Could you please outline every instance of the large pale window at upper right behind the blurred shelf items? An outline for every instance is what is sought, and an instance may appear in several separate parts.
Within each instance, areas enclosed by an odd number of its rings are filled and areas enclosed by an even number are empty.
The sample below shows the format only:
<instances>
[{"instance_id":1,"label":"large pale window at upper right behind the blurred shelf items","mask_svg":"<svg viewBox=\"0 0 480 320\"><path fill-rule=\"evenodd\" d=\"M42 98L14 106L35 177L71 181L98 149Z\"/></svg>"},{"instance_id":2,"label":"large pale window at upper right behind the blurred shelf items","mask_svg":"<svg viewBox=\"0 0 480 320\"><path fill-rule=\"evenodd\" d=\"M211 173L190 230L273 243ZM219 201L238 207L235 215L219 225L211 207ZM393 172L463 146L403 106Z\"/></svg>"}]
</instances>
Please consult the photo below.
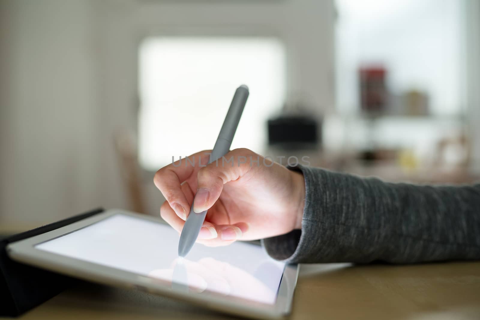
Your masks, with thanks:
<instances>
[{"instance_id":1,"label":"large pale window at upper right behind the blurred shelf items","mask_svg":"<svg viewBox=\"0 0 480 320\"><path fill-rule=\"evenodd\" d=\"M432 115L463 105L463 1L336 0L336 100L342 113L359 106L358 68L386 67L392 95L418 89Z\"/></svg>"}]
</instances>

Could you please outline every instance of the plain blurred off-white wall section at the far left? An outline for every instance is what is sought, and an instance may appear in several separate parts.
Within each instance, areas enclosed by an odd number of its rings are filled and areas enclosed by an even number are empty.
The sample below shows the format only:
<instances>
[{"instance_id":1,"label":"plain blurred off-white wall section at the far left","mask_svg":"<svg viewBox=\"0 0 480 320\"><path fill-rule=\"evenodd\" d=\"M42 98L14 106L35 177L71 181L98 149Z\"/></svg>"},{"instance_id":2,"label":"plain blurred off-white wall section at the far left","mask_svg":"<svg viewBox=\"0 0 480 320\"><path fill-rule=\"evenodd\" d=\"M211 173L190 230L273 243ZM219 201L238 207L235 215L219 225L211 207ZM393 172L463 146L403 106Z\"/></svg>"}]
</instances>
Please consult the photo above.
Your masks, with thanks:
<instances>
[{"instance_id":1,"label":"plain blurred off-white wall section at the far left","mask_svg":"<svg viewBox=\"0 0 480 320\"><path fill-rule=\"evenodd\" d=\"M1 221L101 203L89 1L2 1Z\"/></svg>"}]
</instances>

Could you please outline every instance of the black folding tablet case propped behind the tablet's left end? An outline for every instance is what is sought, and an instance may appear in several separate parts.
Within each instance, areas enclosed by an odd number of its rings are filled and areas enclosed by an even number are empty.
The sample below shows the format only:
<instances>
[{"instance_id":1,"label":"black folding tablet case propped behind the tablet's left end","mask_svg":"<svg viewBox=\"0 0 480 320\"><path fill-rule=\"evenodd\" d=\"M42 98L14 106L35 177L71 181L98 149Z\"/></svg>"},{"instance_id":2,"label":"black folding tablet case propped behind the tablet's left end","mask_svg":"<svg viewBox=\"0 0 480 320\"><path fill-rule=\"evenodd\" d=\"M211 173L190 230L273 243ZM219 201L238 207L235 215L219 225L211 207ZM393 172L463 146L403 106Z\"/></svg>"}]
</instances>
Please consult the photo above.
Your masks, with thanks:
<instances>
[{"instance_id":1,"label":"black folding tablet case propped behind the tablet's left end","mask_svg":"<svg viewBox=\"0 0 480 320\"><path fill-rule=\"evenodd\" d=\"M7 254L7 245L70 225L103 211L98 208L0 240L0 316L21 315L80 281L13 261Z\"/></svg>"}]
</instances>

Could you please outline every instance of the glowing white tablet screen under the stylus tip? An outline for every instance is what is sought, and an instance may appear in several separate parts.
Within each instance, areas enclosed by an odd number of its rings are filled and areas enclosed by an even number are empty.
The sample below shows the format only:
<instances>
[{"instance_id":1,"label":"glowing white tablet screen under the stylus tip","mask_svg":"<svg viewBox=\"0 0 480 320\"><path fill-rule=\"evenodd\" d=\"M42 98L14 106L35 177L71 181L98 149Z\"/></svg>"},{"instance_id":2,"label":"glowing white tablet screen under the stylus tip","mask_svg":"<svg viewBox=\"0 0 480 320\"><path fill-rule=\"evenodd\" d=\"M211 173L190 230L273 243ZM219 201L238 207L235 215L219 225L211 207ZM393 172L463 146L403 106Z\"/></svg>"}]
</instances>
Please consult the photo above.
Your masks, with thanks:
<instances>
[{"instance_id":1,"label":"glowing white tablet screen under the stylus tip","mask_svg":"<svg viewBox=\"0 0 480 320\"><path fill-rule=\"evenodd\" d=\"M179 237L168 225L115 214L35 247L152 277L174 290L275 303L285 265L260 246L234 242L212 248L196 243L186 258L179 258Z\"/></svg>"}]
</instances>

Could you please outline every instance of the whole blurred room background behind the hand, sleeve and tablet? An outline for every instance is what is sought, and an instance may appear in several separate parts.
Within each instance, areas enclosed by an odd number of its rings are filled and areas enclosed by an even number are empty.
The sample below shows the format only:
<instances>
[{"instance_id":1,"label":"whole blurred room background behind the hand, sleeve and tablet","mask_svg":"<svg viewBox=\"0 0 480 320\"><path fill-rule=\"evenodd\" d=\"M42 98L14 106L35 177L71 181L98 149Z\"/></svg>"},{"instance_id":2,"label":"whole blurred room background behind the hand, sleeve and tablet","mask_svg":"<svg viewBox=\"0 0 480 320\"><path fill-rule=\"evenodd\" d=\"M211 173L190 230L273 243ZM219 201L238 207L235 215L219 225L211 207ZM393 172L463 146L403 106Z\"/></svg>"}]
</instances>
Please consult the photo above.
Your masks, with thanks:
<instances>
[{"instance_id":1,"label":"whole blurred room background behind the hand, sleeve and tablet","mask_svg":"<svg viewBox=\"0 0 480 320\"><path fill-rule=\"evenodd\" d=\"M242 83L232 148L471 183L479 61L478 0L0 0L0 224L158 215Z\"/></svg>"}]
</instances>

